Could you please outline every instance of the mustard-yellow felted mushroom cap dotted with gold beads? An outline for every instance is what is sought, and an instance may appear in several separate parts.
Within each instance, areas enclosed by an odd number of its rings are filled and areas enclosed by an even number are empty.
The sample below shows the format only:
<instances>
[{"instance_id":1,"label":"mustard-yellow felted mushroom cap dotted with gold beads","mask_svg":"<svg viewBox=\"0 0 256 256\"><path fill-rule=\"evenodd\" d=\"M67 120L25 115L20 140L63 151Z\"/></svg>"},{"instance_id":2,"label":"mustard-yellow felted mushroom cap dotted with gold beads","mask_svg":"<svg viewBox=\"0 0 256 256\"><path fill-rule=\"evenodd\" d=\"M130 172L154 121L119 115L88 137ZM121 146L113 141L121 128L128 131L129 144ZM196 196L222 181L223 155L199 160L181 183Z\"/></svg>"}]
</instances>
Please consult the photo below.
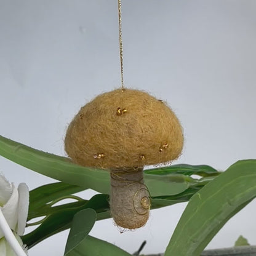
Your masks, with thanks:
<instances>
[{"instance_id":1,"label":"mustard-yellow felted mushroom cap dotted with gold beads","mask_svg":"<svg viewBox=\"0 0 256 256\"><path fill-rule=\"evenodd\" d=\"M134 89L106 92L82 106L65 137L74 162L102 169L170 162L182 148L183 129L174 112Z\"/></svg>"}]
</instances>

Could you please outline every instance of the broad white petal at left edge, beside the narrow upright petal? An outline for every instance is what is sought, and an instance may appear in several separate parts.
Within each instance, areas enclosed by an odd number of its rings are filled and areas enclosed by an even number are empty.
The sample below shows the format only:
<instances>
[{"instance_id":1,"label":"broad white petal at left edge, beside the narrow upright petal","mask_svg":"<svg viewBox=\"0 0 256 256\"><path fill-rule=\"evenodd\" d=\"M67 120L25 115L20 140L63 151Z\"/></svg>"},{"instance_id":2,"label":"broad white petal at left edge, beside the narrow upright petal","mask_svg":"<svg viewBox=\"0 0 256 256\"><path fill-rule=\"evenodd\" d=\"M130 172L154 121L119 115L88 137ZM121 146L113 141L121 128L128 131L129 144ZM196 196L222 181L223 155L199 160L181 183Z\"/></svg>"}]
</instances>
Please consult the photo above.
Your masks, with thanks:
<instances>
[{"instance_id":1,"label":"broad white petal at left edge, beside the narrow upright petal","mask_svg":"<svg viewBox=\"0 0 256 256\"><path fill-rule=\"evenodd\" d=\"M14 184L12 184L12 189L13 191L9 201L4 207L1 207L1 209L10 228L16 230L18 224L18 190L15 188ZM0 230L0 238L2 238L2 236L3 234Z\"/></svg>"}]
</instances>

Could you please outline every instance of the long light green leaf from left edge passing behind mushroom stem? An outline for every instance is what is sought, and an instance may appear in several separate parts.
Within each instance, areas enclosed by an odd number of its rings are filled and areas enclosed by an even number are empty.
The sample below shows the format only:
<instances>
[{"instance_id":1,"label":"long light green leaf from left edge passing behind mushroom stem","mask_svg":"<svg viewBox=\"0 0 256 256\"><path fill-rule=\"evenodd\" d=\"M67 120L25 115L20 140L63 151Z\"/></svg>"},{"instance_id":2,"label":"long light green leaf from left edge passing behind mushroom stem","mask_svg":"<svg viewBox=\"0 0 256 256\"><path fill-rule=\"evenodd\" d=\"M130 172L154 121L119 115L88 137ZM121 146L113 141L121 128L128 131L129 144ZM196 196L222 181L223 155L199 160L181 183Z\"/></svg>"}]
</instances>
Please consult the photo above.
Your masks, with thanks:
<instances>
[{"instance_id":1,"label":"long light green leaf from left edge passing behind mushroom stem","mask_svg":"<svg viewBox=\"0 0 256 256\"><path fill-rule=\"evenodd\" d=\"M39 174L71 185L91 188L110 194L110 175L107 170L93 169L73 164L70 159L49 154L0 136L0 155ZM188 169L188 166L185 166ZM157 172L158 169L154 169ZM181 170L180 170L181 171ZM145 174L145 183L151 196L178 194L196 180L166 171L166 175Z\"/></svg>"}]
</instances>

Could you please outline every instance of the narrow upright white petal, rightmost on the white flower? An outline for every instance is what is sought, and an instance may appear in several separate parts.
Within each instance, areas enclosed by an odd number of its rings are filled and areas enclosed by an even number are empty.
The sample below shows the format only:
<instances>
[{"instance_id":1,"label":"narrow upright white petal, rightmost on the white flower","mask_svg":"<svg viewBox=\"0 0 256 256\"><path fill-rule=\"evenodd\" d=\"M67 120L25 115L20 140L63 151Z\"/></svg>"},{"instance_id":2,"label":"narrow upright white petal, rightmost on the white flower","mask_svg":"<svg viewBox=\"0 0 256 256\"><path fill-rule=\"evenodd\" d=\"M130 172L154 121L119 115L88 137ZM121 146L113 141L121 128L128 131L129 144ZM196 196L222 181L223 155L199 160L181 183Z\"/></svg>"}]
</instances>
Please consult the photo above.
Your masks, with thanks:
<instances>
[{"instance_id":1,"label":"narrow upright white petal, rightmost on the white flower","mask_svg":"<svg viewBox=\"0 0 256 256\"><path fill-rule=\"evenodd\" d=\"M17 233L22 236L25 232L26 218L28 218L28 204L30 203L30 192L25 183L18 185L18 229Z\"/></svg>"}]
</instances>

